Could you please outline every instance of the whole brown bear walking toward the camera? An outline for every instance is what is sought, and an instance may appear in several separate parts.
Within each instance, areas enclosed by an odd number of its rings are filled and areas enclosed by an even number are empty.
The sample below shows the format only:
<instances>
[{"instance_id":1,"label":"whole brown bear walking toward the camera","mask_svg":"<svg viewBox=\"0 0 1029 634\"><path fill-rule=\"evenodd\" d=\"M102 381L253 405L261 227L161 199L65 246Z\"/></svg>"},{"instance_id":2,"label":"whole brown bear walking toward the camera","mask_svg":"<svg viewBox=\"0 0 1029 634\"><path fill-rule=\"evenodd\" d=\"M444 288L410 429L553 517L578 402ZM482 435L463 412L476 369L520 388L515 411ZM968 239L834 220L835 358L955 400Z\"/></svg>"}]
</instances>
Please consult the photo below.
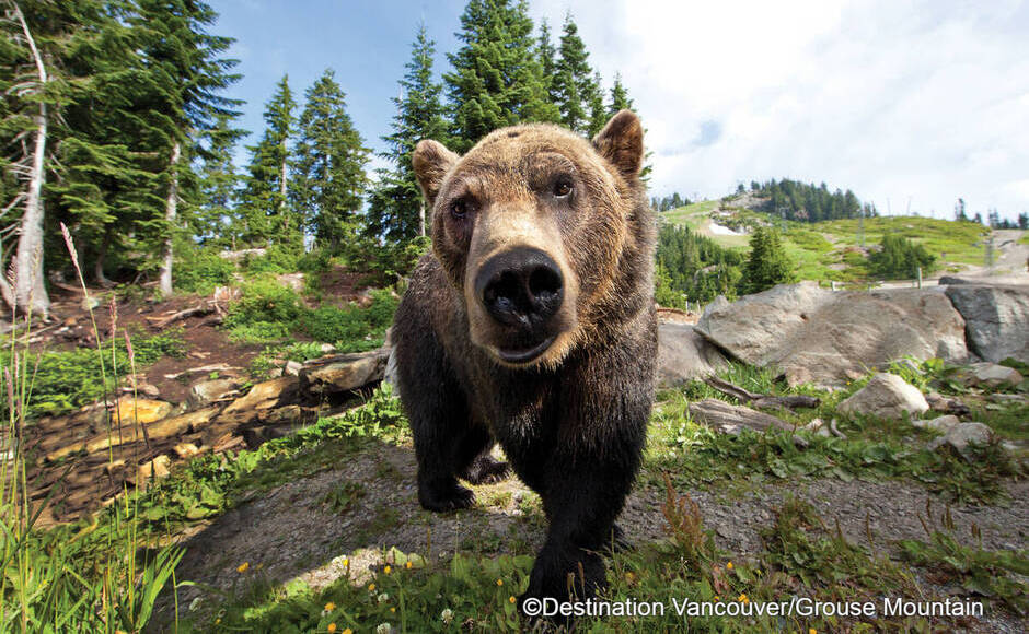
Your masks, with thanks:
<instances>
[{"instance_id":1,"label":"whole brown bear walking toward the camera","mask_svg":"<svg viewBox=\"0 0 1029 634\"><path fill-rule=\"evenodd\" d=\"M551 125L497 130L458 156L418 143L432 253L396 313L397 388L430 510L508 466L550 521L528 598L592 597L654 401L655 220L643 128L617 113L590 142Z\"/></svg>"}]
</instances>

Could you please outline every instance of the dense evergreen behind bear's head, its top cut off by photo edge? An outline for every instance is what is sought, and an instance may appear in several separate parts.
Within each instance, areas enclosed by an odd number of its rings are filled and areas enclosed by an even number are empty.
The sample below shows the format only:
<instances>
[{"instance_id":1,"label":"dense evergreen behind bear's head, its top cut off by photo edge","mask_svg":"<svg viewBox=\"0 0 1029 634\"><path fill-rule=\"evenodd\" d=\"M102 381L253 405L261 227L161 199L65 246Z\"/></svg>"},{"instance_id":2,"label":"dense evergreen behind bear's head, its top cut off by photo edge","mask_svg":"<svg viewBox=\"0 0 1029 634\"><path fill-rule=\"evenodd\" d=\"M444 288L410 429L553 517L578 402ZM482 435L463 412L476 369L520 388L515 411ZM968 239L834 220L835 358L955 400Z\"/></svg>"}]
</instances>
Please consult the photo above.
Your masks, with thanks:
<instances>
[{"instance_id":1,"label":"dense evergreen behind bear's head, its top cut off by photo edge","mask_svg":"<svg viewBox=\"0 0 1029 634\"><path fill-rule=\"evenodd\" d=\"M470 0L443 75L453 119L453 145L469 150L488 132L521 121L554 121L524 0Z\"/></svg>"}]
</instances>

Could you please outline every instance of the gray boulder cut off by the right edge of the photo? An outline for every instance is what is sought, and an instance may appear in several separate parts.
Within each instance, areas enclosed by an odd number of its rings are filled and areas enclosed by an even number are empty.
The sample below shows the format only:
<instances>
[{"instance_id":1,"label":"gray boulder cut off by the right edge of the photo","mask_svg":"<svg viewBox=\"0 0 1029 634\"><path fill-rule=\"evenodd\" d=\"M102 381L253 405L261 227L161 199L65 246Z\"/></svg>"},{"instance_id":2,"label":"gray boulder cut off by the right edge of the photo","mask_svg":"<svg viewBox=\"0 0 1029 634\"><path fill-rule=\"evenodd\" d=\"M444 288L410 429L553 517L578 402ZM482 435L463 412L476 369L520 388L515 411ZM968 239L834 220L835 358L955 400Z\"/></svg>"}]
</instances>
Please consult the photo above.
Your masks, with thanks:
<instances>
[{"instance_id":1,"label":"gray boulder cut off by the right edge of the photo","mask_svg":"<svg viewBox=\"0 0 1029 634\"><path fill-rule=\"evenodd\" d=\"M964 318L969 349L994 363L1011 356L1029 363L1029 286L947 286Z\"/></svg>"}]
</instances>

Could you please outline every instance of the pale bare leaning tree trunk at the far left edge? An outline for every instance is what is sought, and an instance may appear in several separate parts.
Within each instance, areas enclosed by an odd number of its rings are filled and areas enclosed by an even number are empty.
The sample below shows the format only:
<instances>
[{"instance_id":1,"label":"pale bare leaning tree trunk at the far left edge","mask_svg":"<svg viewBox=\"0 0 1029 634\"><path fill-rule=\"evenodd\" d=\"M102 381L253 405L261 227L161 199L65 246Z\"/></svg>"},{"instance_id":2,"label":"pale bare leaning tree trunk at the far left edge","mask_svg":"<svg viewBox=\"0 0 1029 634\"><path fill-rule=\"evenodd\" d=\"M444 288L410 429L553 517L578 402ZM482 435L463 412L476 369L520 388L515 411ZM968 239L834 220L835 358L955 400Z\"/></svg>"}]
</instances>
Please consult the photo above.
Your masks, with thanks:
<instances>
[{"instance_id":1,"label":"pale bare leaning tree trunk at the far left edge","mask_svg":"<svg viewBox=\"0 0 1029 634\"><path fill-rule=\"evenodd\" d=\"M21 24L28 49L36 62L39 77L38 93L46 86L46 67L43 57L36 48L36 43L25 23L18 4L12 3L14 16ZM28 189L25 192L25 213L22 215L21 231L18 238L18 250L14 255L14 302L18 309L23 313L36 315L46 314L50 309L50 298L46 294L43 277L43 181L46 177L43 160L46 155L47 111L46 103L39 102L39 110L33 116L33 126L36 128L36 140L32 153L32 167L28 173Z\"/></svg>"}]
</instances>

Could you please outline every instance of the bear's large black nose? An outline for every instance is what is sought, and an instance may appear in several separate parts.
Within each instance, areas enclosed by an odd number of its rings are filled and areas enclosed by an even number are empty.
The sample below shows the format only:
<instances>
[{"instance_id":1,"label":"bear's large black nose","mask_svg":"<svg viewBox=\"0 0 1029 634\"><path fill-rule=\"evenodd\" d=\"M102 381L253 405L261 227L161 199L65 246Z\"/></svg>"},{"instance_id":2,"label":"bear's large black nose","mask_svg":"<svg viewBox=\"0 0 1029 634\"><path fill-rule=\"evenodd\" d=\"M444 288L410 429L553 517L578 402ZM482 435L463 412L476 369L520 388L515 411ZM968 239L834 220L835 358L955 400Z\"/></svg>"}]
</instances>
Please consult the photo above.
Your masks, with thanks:
<instances>
[{"instance_id":1,"label":"bear's large black nose","mask_svg":"<svg viewBox=\"0 0 1029 634\"><path fill-rule=\"evenodd\" d=\"M535 329L560 308L564 282L557 262L536 248L516 247L486 260L475 294L507 326Z\"/></svg>"}]
</instances>

